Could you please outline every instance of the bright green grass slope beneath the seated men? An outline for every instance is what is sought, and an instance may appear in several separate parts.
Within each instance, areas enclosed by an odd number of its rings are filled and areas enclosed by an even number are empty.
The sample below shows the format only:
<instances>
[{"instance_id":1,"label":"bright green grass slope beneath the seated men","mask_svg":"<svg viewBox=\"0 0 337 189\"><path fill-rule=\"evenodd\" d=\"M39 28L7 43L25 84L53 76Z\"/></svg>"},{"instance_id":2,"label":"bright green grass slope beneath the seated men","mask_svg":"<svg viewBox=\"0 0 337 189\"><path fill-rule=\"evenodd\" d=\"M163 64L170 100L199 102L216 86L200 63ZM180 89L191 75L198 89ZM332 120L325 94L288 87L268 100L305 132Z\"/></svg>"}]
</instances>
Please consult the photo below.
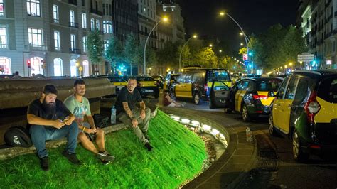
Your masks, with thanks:
<instances>
[{"instance_id":1,"label":"bright green grass slope beneath the seated men","mask_svg":"<svg viewBox=\"0 0 337 189\"><path fill-rule=\"evenodd\" d=\"M151 119L146 150L131 129L106 136L116 159L105 166L82 146L82 166L68 162L63 147L49 149L50 171L42 171L34 154L0 161L0 188L178 188L200 173L207 158L204 142L163 112Z\"/></svg>"}]
</instances>

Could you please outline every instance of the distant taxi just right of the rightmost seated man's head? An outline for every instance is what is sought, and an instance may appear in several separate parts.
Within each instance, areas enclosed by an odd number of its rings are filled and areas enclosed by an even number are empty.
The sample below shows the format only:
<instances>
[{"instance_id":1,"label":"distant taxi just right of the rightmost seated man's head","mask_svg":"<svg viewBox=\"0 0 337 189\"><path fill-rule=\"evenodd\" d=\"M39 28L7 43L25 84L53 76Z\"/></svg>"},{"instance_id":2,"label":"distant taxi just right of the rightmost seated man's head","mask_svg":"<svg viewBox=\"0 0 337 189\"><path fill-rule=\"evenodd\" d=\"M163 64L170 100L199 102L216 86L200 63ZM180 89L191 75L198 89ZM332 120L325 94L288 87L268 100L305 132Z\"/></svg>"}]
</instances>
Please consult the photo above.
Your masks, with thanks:
<instances>
[{"instance_id":1,"label":"distant taxi just right of the rightmost seated man's head","mask_svg":"<svg viewBox=\"0 0 337 189\"><path fill-rule=\"evenodd\" d=\"M148 95L154 96L154 98L159 97L159 83L154 80L151 76L146 75L137 75L137 90L139 90L142 97L146 97Z\"/></svg>"}]
</instances>

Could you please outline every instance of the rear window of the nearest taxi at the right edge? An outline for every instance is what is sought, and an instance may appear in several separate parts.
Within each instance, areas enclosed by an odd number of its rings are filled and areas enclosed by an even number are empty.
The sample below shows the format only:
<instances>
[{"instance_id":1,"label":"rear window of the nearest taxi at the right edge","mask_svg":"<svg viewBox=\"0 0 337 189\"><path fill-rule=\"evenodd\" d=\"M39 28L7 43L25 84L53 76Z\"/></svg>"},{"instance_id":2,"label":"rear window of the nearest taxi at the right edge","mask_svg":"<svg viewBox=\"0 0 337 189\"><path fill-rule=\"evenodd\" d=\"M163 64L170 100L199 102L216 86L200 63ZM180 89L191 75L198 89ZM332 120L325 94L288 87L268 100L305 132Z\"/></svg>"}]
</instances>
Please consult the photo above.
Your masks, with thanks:
<instances>
[{"instance_id":1,"label":"rear window of the nearest taxi at the right edge","mask_svg":"<svg viewBox=\"0 0 337 189\"><path fill-rule=\"evenodd\" d=\"M330 77L321 81L317 95L327 102L337 103L337 77Z\"/></svg>"}]
</instances>

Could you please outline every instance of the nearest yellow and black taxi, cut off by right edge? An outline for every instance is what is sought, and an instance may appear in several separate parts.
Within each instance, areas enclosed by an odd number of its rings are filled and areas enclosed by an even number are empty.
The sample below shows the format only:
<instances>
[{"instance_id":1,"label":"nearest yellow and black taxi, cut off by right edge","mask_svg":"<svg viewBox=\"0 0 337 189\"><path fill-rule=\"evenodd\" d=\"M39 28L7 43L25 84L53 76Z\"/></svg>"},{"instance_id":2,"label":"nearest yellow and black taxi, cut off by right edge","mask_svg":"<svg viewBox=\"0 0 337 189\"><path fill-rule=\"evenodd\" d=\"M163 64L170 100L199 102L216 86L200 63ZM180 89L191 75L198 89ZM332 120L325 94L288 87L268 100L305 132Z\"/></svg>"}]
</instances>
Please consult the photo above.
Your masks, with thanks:
<instances>
[{"instance_id":1,"label":"nearest yellow and black taxi, cut off by right edge","mask_svg":"<svg viewBox=\"0 0 337 189\"><path fill-rule=\"evenodd\" d=\"M295 160L306 161L311 153L336 154L336 70L294 71L284 79L275 97L269 132L292 140Z\"/></svg>"}]
</instances>

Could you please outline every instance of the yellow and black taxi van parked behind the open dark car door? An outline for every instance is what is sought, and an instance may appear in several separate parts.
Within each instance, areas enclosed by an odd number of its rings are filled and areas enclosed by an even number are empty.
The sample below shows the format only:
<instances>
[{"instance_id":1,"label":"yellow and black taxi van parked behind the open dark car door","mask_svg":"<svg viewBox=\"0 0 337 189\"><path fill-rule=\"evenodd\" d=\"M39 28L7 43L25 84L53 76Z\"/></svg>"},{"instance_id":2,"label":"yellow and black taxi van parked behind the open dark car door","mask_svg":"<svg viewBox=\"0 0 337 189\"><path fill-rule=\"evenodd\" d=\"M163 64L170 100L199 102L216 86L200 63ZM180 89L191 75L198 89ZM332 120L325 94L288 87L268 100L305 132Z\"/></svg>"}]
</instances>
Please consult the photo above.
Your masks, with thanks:
<instances>
[{"instance_id":1,"label":"yellow and black taxi van parked behind the open dark car door","mask_svg":"<svg viewBox=\"0 0 337 189\"><path fill-rule=\"evenodd\" d=\"M177 78L176 83L173 84L173 92L176 97L193 99L194 104L200 104L201 99L208 100L213 80L220 81L215 82L215 86L232 86L227 70L196 68L184 71Z\"/></svg>"}]
</instances>

